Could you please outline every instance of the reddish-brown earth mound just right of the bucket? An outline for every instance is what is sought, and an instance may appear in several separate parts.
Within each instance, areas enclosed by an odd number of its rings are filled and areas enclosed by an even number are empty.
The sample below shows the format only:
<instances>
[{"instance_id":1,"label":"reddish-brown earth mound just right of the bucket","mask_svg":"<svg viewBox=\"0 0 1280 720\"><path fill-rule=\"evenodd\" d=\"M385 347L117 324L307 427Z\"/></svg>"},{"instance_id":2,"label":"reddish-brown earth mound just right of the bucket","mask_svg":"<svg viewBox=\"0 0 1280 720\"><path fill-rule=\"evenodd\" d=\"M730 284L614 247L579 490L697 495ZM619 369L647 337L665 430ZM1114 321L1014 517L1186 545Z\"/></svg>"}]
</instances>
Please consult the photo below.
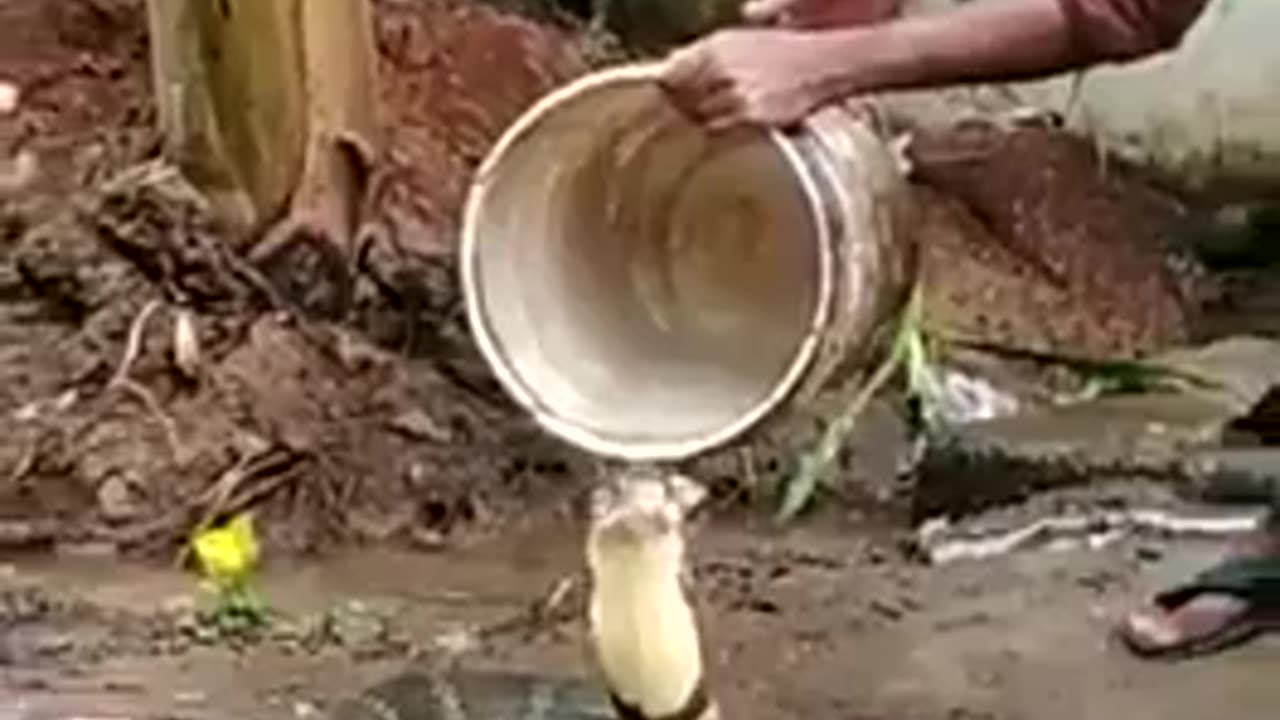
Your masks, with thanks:
<instances>
[{"instance_id":1,"label":"reddish-brown earth mound just right of the bucket","mask_svg":"<svg viewBox=\"0 0 1280 720\"><path fill-rule=\"evenodd\" d=\"M1051 128L992 123L911 142L931 329L1089 359L1185 342L1210 287L1170 247L1181 218L1139 172Z\"/></svg>"}]
</instances>

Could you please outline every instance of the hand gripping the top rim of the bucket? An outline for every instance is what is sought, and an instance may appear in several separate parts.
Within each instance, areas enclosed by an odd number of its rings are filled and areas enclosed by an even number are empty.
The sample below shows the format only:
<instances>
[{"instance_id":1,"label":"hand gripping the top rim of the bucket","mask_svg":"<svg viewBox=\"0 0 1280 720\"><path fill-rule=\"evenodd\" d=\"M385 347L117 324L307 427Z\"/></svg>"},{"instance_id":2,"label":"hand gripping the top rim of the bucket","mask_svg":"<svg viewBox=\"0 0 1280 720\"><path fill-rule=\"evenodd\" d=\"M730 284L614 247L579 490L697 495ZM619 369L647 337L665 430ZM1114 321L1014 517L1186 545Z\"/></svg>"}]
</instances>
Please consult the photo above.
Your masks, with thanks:
<instances>
[{"instance_id":1,"label":"hand gripping the top rim of the bucket","mask_svg":"<svg viewBox=\"0 0 1280 720\"><path fill-rule=\"evenodd\" d=\"M735 28L673 53L659 82L708 129L788 126L832 99L840 67L819 33Z\"/></svg>"}]
</instances>

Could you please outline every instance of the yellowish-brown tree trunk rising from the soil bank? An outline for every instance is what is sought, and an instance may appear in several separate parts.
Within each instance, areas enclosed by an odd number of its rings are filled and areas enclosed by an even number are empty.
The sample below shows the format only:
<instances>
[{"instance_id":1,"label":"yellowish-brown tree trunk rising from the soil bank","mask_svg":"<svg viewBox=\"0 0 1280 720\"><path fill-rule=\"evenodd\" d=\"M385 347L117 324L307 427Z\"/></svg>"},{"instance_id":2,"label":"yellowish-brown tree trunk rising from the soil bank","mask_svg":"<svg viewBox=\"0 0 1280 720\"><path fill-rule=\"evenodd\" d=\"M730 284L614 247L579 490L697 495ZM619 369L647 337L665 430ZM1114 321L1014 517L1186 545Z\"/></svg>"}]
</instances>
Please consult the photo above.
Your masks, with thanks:
<instances>
[{"instance_id":1,"label":"yellowish-brown tree trunk rising from the soil bank","mask_svg":"<svg viewBox=\"0 0 1280 720\"><path fill-rule=\"evenodd\" d=\"M165 152L285 295L305 290L294 300L307 309L340 313L379 155L369 0L147 10Z\"/></svg>"}]
</instances>

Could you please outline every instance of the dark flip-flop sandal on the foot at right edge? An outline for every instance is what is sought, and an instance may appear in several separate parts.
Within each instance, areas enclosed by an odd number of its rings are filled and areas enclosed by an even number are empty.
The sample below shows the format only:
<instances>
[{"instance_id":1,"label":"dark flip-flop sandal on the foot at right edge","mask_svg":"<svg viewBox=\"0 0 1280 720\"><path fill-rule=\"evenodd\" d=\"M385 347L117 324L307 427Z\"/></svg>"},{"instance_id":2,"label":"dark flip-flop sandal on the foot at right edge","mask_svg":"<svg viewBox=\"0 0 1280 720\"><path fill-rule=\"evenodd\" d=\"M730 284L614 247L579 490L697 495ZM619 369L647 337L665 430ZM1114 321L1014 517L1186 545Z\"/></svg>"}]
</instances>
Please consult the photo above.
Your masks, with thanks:
<instances>
[{"instance_id":1,"label":"dark flip-flop sandal on the foot at right edge","mask_svg":"<svg viewBox=\"0 0 1280 720\"><path fill-rule=\"evenodd\" d=\"M1210 633L1197 633L1183 642L1152 644L1135 637L1125 623L1116 629L1120 641L1143 659L1188 659L1247 643L1261 634L1280 632L1280 557L1230 559L1198 574L1190 583L1162 592L1153 605L1175 612L1207 594L1239 598L1247 607Z\"/></svg>"}]
</instances>

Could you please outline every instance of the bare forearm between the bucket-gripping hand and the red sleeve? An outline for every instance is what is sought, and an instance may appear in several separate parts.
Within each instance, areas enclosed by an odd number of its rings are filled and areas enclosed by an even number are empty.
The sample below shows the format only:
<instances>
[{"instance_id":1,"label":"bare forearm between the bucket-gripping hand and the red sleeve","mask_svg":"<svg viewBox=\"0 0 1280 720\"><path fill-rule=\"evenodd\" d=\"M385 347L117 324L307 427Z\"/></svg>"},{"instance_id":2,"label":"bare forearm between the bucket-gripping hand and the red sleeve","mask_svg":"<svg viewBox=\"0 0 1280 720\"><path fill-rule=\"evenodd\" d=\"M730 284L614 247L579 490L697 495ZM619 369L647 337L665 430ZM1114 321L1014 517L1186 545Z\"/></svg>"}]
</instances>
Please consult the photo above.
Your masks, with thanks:
<instances>
[{"instance_id":1,"label":"bare forearm between the bucket-gripping hand and the red sleeve","mask_svg":"<svg viewBox=\"0 0 1280 720\"><path fill-rule=\"evenodd\" d=\"M841 94L1024 79L1093 59L1076 50L1059 0L988 0L828 32Z\"/></svg>"}]
</instances>

